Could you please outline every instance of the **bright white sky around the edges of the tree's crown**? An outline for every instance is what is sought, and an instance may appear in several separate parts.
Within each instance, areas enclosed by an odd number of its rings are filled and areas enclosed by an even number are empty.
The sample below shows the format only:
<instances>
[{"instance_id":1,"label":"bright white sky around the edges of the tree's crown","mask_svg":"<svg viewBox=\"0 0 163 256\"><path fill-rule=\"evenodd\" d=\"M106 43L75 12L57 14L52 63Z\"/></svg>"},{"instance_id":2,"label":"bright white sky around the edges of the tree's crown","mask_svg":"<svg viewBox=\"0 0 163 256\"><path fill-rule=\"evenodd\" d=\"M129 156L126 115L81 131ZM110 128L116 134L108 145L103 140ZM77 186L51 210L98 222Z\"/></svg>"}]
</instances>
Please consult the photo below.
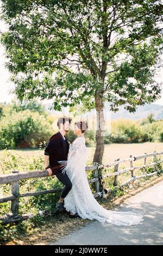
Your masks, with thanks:
<instances>
[{"instance_id":1,"label":"bright white sky around the edges of the tree's crown","mask_svg":"<svg viewBox=\"0 0 163 256\"><path fill-rule=\"evenodd\" d=\"M4 32L6 26L3 21L0 21L0 31ZM14 84L9 82L9 71L5 68L5 51L2 44L0 44L0 102L10 102L14 99L15 95L11 94L10 91L14 88ZM159 71L158 76L156 76L158 82L163 82L163 68ZM44 100L42 103L50 103L51 101ZM163 105L163 90L161 94L161 99L154 102L155 104Z\"/></svg>"}]
</instances>

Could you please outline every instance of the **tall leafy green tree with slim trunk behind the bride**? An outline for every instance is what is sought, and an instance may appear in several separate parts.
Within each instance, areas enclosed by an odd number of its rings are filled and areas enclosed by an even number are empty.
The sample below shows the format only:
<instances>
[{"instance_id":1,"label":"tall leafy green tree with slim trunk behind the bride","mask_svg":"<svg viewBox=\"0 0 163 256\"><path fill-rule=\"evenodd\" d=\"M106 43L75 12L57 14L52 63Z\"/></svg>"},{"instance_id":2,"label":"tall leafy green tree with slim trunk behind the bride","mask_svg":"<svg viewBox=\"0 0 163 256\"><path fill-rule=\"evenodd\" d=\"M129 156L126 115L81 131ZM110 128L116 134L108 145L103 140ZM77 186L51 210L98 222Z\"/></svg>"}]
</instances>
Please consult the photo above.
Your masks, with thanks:
<instances>
[{"instance_id":1,"label":"tall leafy green tree with slim trunk behind the bride","mask_svg":"<svg viewBox=\"0 0 163 256\"><path fill-rule=\"evenodd\" d=\"M159 99L161 1L2 0L2 34L19 99L53 99L54 109L96 108L96 151L104 152L104 101L129 112Z\"/></svg>"}]
</instances>

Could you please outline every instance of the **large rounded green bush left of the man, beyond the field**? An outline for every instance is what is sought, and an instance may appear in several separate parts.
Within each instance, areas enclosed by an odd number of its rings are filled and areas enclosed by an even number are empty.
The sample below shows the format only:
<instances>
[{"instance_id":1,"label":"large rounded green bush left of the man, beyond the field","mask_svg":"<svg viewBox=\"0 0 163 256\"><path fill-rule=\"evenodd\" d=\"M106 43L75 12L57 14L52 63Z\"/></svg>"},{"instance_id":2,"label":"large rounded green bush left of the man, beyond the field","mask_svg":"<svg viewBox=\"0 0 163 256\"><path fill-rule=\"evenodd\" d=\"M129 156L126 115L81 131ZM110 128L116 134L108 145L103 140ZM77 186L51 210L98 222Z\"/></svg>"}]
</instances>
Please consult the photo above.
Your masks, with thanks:
<instances>
[{"instance_id":1,"label":"large rounded green bush left of the man, beyond the field","mask_svg":"<svg viewBox=\"0 0 163 256\"><path fill-rule=\"evenodd\" d=\"M40 142L48 141L52 125L44 115L29 110L12 112L0 124L0 149L35 148Z\"/></svg>"}]
</instances>

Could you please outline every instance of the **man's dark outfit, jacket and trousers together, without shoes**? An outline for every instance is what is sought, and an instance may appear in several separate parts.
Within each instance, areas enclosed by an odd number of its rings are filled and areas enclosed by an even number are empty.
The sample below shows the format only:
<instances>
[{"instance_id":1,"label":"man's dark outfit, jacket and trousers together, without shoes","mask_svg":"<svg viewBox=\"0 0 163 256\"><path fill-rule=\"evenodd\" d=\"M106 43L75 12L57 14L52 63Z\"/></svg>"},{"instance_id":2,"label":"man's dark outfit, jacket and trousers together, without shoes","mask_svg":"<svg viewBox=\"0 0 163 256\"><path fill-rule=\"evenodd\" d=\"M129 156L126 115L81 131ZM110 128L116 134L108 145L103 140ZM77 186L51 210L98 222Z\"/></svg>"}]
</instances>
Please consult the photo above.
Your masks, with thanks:
<instances>
[{"instance_id":1,"label":"man's dark outfit, jacket and trousers together, without shoes","mask_svg":"<svg viewBox=\"0 0 163 256\"><path fill-rule=\"evenodd\" d=\"M69 150L69 142L67 138L62 137L60 132L55 133L50 139L45 148L45 155L49 156L49 168L51 168L53 175L65 185L61 192L61 197L65 198L72 188L72 182L67 174L62 174L61 166L58 164L60 160L67 160Z\"/></svg>"}]
</instances>

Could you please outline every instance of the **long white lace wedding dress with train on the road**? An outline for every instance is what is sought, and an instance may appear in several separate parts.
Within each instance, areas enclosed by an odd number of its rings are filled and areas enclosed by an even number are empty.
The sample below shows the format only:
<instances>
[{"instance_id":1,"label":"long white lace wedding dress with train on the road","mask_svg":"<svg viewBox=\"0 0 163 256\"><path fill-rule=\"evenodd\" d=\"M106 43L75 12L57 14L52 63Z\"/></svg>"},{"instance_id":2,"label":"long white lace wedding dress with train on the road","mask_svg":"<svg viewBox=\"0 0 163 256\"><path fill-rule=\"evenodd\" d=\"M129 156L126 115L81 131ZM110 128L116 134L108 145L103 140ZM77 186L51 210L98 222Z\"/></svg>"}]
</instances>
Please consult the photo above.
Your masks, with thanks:
<instances>
[{"instance_id":1,"label":"long white lace wedding dress with train on the road","mask_svg":"<svg viewBox=\"0 0 163 256\"><path fill-rule=\"evenodd\" d=\"M65 208L73 214L76 212L84 219L108 222L115 225L136 225L142 221L142 216L131 211L111 211L103 208L93 197L85 172L87 148L85 138L79 136L70 145L67 161L62 164L62 173L67 173L72 182L72 188L65 197Z\"/></svg>"}]
</instances>

